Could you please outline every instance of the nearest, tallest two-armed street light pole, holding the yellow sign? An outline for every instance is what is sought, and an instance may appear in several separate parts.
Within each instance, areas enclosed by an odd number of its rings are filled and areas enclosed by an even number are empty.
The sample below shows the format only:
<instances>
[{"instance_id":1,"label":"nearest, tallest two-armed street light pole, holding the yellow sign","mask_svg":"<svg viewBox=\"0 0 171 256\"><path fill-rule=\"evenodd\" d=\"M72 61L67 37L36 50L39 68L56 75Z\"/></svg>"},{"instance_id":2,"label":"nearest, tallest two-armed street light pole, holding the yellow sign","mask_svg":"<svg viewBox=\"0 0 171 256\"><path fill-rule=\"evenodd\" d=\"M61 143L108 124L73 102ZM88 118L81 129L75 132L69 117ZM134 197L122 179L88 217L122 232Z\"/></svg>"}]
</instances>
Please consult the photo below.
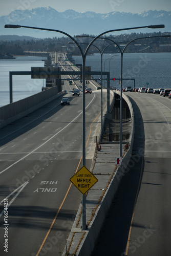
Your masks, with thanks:
<instances>
[{"instance_id":1,"label":"nearest, tallest two-armed street light pole, holding the yellow sign","mask_svg":"<svg viewBox=\"0 0 171 256\"><path fill-rule=\"evenodd\" d=\"M85 65L86 65L86 56L88 53L89 48L93 44L93 42L99 38L100 36L115 32L115 31L123 31L123 30L133 30L133 29L141 29L141 28L164 28L164 25L150 25L150 26L143 26L143 27L133 27L133 28L124 28L124 29L113 29L109 31L105 31L100 35L96 36L88 45L86 51L83 53L81 47L79 46L78 42L68 33L56 30L56 29L46 29L46 28L37 28L37 27L29 27L29 26L21 26L21 25L5 25L5 28L29 28L29 29L37 29L37 30L46 30L46 31L54 31L61 34L68 36L71 40L75 42L78 46L81 56L82 56L82 83L83 83L83 99L82 99L82 166L86 165L86 103L85 103ZM86 229L86 195L82 195L82 230Z\"/></svg>"}]
</instances>

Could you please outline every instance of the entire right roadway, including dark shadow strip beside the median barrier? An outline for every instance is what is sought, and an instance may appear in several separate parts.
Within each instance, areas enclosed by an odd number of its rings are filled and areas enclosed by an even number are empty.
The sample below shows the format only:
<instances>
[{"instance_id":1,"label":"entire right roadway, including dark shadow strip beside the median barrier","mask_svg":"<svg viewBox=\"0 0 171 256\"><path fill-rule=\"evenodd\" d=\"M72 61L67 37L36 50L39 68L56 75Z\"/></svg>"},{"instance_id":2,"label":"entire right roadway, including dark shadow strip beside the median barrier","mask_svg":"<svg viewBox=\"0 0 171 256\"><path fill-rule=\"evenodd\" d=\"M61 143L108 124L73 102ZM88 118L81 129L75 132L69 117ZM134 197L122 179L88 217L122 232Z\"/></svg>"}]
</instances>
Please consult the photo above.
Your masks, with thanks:
<instances>
[{"instance_id":1,"label":"entire right roadway, including dark shadow strip beside the median barrier","mask_svg":"<svg viewBox=\"0 0 171 256\"><path fill-rule=\"evenodd\" d=\"M169 256L171 251L171 100L125 93L135 111L133 156L92 256Z\"/></svg>"}]
</instances>

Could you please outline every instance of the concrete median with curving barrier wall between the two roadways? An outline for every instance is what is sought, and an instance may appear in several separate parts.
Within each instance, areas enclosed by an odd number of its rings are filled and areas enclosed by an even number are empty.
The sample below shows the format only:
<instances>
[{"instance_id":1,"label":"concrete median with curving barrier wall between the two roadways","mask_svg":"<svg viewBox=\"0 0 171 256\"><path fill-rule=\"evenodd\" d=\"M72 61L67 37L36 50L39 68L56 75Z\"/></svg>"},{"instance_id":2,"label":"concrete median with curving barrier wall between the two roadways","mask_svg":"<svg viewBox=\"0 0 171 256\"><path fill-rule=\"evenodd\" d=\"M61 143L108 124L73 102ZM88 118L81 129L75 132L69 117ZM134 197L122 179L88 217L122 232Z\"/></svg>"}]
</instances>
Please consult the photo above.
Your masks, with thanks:
<instances>
[{"instance_id":1,"label":"concrete median with curving barrier wall between the two roadways","mask_svg":"<svg viewBox=\"0 0 171 256\"><path fill-rule=\"evenodd\" d=\"M127 171L126 166L131 159L134 142L134 112L129 98L126 95L123 95L123 98L130 108L132 117L129 149L124 153L121 165L118 167L115 164L115 157L119 156L118 144L102 144L102 150L100 152L96 152L95 150L90 171L98 179L98 182L88 191L86 197L87 229L82 230L82 206L80 205L66 244L66 249L63 251L62 256L91 255L106 213L108 212L119 183ZM113 101L111 104L113 104Z\"/></svg>"}]
</instances>

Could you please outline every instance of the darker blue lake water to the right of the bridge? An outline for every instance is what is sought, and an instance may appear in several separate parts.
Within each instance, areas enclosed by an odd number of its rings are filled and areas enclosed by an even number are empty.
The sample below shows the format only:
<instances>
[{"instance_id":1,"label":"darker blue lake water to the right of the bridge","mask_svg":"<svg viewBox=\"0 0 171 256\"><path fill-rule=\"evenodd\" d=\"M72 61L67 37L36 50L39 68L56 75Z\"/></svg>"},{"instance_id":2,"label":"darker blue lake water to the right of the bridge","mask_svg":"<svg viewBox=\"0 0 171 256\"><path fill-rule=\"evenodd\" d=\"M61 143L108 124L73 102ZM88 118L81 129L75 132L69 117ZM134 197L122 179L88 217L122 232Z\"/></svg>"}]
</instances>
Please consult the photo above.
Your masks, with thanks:
<instances>
[{"instance_id":1,"label":"darker blue lake water to the right of the bridge","mask_svg":"<svg viewBox=\"0 0 171 256\"><path fill-rule=\"evenodd\" d=\"M73 59L82 63L81 56L74 56ZM103 54L102 59L103 71L110 69L110 78L120 78L120 54ZM91 66L91 71L101 71L100 54L88 55L86 66ZM171 53L124 53L123 78L135 78L135 87L171 88ZM111 80L110 85L120 88L118 80ZM133 81L123 80L123 88L126 86L133 87Z\"/></svg>"}]
</instances>

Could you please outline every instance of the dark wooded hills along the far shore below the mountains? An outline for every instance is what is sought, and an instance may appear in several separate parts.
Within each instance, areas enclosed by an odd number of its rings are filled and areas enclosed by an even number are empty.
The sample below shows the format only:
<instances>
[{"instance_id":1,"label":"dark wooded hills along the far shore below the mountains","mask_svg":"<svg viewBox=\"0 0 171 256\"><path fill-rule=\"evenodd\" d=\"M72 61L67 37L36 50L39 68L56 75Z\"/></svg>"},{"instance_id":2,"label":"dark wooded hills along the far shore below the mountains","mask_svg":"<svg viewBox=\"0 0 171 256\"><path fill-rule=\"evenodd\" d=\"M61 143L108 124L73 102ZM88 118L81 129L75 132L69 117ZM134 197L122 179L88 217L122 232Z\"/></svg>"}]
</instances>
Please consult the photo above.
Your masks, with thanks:
<instances>
[{"instance_id":1,"label":"dark wooded hills along the far shore below the mountains","mask_svg":"<svg viewBox=\"0 0 171 256\"><path fill-rule=\"evenodd\" d=\"M127 42L139 38L139 37L150 37L150 36L161 36L163 34L169 34L168 32L153 32L153 33L131 33L131 34L120 34L120 35L108 35L104 37L106 40L97 39L94 42L94 45L98 47L101 51L112 42L111 40L117 42L120 47L124 47ZM84 35L85 36L85 35ZM86 44L92 40L92 37L95 35L90 35L89 37L75 38L78 42L80 42L80 46L82 49L86 49ZM2 37L2 36L1 36ZM0 58L3 56L14 56L14 55L25 55L26 51L56 51L56 52L71 52L73 55L79 55L78 47L75 47L74 44L68 44L71 42L71 39L68 37L53 37L53 38L27 38L23 39L23 37L17 36L15 40L15 36L8 36L8 39L1 39L0 37ZM25 38L25 37L24 37ZM81 42L83 44L81 44ZM95 47L91 47L89 50L89 54L98 53L98 49ZM119 52L118 48L113 44L106 48L105 53L117 53ZM126 52L171 52L171 39L170 38L146 38L141 40L136 40L129 47L126 48Z\"/></svg>"}]
</instances>

